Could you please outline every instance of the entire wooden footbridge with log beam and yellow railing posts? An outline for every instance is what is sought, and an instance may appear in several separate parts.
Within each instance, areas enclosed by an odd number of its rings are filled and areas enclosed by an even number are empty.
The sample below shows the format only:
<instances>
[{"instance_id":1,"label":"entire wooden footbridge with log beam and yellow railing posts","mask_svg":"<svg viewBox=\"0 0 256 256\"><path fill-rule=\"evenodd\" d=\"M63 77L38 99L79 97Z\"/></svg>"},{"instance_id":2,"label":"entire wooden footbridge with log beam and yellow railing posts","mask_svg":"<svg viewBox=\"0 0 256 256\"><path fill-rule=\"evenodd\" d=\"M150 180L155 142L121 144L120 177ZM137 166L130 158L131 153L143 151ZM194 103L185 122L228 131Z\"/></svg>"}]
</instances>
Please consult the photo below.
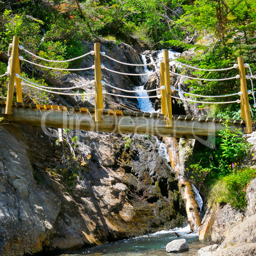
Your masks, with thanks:
<instances>
[{"instance_id":1,"label":"entire wooden footbridge with log beam and yellow railing posts","mask_svg":"<svg viewBox=\"0 0 256 256\"><path fill-rule=\"evenodd\" d=\"M192 117L172 115L171 86L169 77L168 51L164 50L164 62L160 63L160 85L162 113L144 113L122 110L104 110L101 85L101 62L99 43L94 46L95 108L78 106L57 106L22 103L20 68L18 59L18 37L13 38L13 51L10 63L10 80L7 101L0 102L1 117L18 124L41 125L56 128L83 129L85 131L122 132L150 134L161 137L198 138L218 134L223 127L223 118ZM231 132L236 129L250 133L252 121L248 103L243 59L238 58L241 80L241 117L243 120L229 120ZM16 82L18 103L13 103L13 90ZM166 86L167 85L167 86ZM239 94L240 95L240 94Z\"/></svg>"}]
</instances>

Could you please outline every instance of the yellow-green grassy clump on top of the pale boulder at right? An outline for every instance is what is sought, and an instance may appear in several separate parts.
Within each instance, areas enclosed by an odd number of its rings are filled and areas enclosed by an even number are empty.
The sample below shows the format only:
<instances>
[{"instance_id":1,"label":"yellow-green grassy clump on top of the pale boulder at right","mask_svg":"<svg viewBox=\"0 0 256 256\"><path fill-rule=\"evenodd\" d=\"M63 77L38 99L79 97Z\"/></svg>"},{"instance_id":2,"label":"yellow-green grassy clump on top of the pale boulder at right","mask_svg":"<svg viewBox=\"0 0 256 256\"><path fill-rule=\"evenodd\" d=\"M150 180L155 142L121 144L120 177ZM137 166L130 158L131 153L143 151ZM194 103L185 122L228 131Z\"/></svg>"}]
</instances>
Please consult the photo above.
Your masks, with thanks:
<instances>
[{"instance_id":1,"label":"yellow-green grassy clump on top of the pale boulder at right","mask_svg":"<svg viewBox=\"0 0 256 256\"><path fill-rule=\"evenodd\" d=\"M208 196L208 208L220 203L245 210L245 187L256 177L256 169L246 167L220 178L212 187Z\"/></svg>"}]
</instances>

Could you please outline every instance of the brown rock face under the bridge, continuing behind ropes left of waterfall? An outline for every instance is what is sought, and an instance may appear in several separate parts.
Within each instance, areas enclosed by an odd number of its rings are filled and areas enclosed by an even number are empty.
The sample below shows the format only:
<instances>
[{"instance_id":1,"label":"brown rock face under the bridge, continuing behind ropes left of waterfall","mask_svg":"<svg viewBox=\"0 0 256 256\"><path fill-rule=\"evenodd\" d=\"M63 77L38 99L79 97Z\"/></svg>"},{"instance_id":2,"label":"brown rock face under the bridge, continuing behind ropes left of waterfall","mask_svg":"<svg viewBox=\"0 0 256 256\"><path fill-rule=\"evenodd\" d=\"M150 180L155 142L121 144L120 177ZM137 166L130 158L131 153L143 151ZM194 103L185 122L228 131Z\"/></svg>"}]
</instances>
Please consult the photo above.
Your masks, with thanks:
<instances>
[{"instance_id":1,"label":"brown rock face under the bridge, continuing behind ropes left of waterfall","mask_svg":"<svg viewBox=\"0 0 256 256\"><path fill-rule=\"evenodd\" d=\"M92 44L88 47L92 50ZM112 57L139 61L130 46L105 42L103 50L109 48L117 54ZM92 57L82 66L91 66L91 62ZM116 69L113 66L119 64L109 65ZM104 71L103 78L125 89L139 83ZM73 86L91 79L92 73L86 71L64 75L55 83ZM84 89L92 90L90 86ZM93 97L55 99L62 104L94 104ZM138 107L136 101L113 97L104 102L106 108ZM184 224L178 183L159 149L159 139L84 131L62 134L61 142L54 129L1 125L1 255L98 245Z\"/></svg>"}]
</instances>

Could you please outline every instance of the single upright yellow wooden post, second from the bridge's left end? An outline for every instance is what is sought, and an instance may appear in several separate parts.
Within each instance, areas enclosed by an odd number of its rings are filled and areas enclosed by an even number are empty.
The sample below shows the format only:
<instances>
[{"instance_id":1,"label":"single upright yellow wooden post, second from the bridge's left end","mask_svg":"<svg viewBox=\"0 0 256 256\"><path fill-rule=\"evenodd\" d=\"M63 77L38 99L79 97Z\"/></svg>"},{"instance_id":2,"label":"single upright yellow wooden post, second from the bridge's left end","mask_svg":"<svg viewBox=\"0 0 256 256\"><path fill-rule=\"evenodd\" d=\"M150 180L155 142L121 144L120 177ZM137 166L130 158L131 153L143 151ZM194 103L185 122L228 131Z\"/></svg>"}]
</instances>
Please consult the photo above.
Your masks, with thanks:
<instances>
[{"instance_id":1,"label":"single upright yellow wooden post, second from the bridge's left end","mask_svg":"<svg viewBox=\"0 0 256 256\"><path fill-rule=\"evenodd\" d=\"M103 110L103 89L101 85L101 53L100 44L94 44L94 75L95 75L95 122L101 122Z\"/></svg>"}]
</instances>

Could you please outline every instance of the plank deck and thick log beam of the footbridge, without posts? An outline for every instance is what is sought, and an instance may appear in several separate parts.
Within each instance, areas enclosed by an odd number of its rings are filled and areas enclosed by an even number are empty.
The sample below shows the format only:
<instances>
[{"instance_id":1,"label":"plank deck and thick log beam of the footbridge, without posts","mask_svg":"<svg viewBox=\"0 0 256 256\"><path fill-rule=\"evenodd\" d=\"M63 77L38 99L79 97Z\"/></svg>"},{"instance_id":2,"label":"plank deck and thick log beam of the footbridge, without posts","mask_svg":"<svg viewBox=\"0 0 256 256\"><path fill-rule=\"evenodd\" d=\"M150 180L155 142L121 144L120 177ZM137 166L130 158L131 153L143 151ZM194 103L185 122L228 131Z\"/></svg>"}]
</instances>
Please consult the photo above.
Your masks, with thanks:
<instances>
[{"instance_id":1,"label":"plank deck and thick log beam of the footbridge, without posts","mask_svg":"<svg viewBox=\"0 0 256 256\"><path fill-rule=\"evenodd\" d=\"M18 124L31 124L85 131L149 134L161 137L197 138L218 133L223 118L173 115L173 127L166 127L160 113L103 110L102 122L94 122L94 108L13 103L11 115L4 115L6 102L0 101L1 117ZM230 120L231 131L243 131L244 120Z\"/></svg>"}]
</instances>

